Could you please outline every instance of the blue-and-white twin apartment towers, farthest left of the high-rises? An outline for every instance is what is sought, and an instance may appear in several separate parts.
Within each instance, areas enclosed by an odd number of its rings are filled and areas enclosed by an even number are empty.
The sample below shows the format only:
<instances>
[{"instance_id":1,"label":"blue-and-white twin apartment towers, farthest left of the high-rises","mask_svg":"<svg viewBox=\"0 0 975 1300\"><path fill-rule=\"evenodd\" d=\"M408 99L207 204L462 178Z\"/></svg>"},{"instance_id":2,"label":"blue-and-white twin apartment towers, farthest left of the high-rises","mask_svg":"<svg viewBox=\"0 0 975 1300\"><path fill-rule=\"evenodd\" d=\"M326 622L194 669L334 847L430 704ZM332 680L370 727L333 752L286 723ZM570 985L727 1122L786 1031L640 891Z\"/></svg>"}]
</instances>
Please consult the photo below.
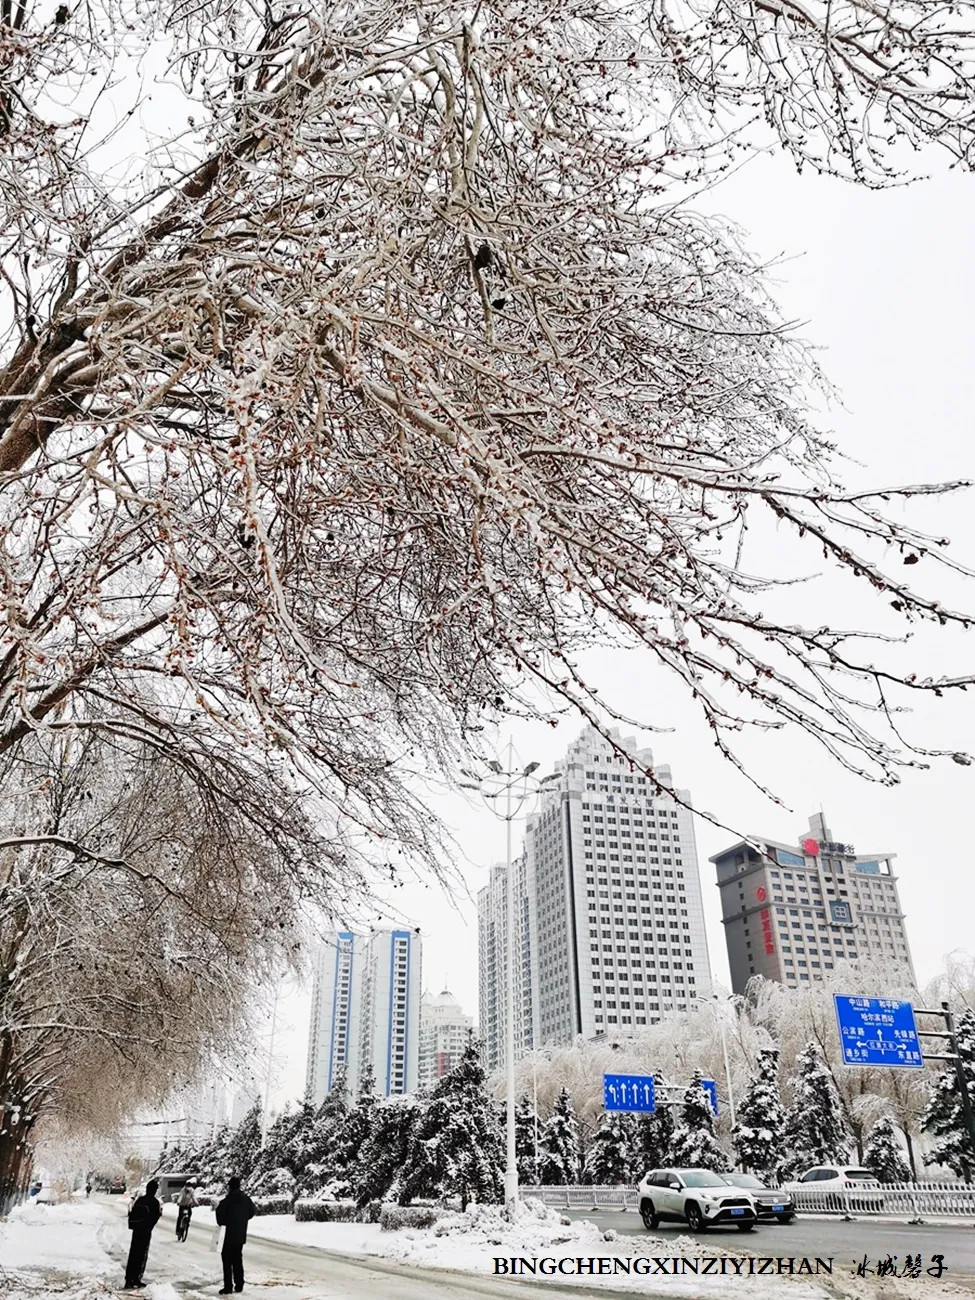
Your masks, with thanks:
<instances>
[{"instance_id":1,"label":"blue-and-white twin apartment towers, farthest left of the high-rises","mask_svg":"<svg viewBox=\"0 0 975 1300\"><path fill-rule=\"evenodd\" d=\"M306 1096L321 1105L341 1070L355 1092L372 1066L381 1096L417 1080L421 941L411 930L328 933L312 989Z\"/></svg>"}]
</instances>

